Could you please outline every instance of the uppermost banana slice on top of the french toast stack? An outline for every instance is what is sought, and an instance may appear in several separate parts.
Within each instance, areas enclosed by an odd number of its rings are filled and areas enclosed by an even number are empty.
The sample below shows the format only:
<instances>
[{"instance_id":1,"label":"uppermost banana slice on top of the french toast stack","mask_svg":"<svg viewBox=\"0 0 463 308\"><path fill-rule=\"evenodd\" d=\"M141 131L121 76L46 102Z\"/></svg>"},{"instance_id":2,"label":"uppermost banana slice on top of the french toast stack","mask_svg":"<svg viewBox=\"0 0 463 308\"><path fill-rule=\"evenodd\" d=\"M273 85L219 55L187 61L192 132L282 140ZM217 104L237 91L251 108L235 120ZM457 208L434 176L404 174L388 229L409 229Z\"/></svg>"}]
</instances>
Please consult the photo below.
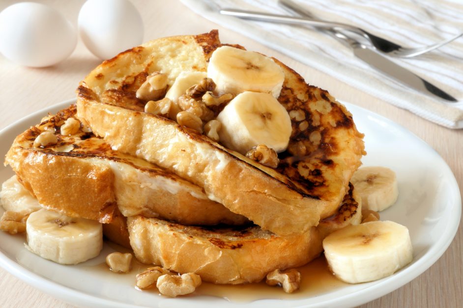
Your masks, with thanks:
<instances>
[{"instance_id":1,"label":"uppermost banana slice on top of the french toast stack","mask_svg":"<svg viewBox=\"0 0 463 308\"><path fill-rule=\"evenodd\" d=\"M230 46L222 46L212 53L207 77L214 80L220 95L254 91L270 93L275 98L280 96L285 80L283 70L271 58Z\"/></svg>"}]
</instances>

